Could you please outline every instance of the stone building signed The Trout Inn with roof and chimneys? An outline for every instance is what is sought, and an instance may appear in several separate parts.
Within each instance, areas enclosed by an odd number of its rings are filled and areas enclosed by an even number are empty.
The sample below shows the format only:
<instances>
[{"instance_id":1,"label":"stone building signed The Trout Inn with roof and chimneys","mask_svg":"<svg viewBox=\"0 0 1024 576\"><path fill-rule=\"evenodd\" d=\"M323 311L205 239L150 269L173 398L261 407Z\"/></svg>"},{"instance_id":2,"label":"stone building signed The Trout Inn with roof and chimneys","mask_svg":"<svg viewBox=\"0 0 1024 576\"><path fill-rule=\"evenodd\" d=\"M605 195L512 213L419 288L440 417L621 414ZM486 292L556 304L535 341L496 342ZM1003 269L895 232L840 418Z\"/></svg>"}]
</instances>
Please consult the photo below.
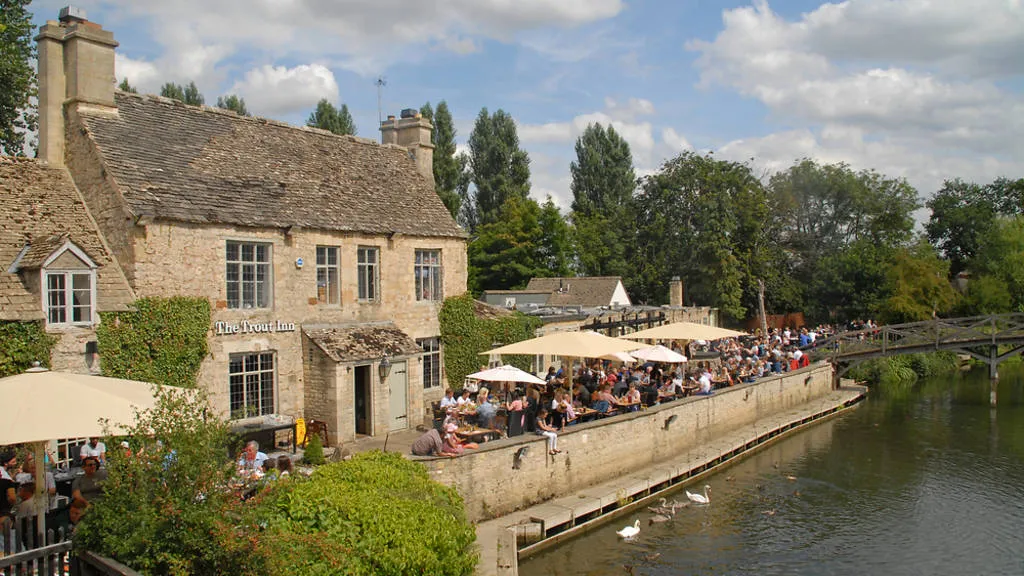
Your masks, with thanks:
<instances>
[{"instance_id":1,"label":"stone building signed The Trout Inn with roof and chimneys","mask_svg":"<svg viewBox=\"0 0 1024 576\"><path fill-rule=\"evenodd\" d=\"M324 420L332 441L423 421L442 395L437 314L466 290L428 122L389 118L380 145L121 92L113 34L80 12L37 41L40 157L67 167L138 297L210 300L216 409Z\"/></svg>"}]
</instances>

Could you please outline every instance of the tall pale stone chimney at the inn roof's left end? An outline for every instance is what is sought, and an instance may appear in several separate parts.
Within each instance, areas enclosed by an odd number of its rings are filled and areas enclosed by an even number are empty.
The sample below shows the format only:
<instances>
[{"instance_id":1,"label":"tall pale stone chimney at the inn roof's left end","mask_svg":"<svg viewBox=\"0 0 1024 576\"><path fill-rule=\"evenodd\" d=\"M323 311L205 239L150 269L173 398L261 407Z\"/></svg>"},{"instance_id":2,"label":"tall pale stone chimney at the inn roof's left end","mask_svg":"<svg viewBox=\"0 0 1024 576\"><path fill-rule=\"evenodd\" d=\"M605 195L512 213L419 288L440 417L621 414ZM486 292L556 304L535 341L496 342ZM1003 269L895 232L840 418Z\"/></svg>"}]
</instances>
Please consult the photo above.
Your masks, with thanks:
<instances>
[{"instance_id":1,"label":"tall pale stone chimney at the inn roof's left end","mask_svg":"<svg viewBox=\"0 0 1024 576\"><path fill-rule=\"evenodd\" d=\"M62 166L67 111L78 105L114 108L114 33L68 6L47 20L39 45L39 158Z\"/></svg>"}]
</instances>

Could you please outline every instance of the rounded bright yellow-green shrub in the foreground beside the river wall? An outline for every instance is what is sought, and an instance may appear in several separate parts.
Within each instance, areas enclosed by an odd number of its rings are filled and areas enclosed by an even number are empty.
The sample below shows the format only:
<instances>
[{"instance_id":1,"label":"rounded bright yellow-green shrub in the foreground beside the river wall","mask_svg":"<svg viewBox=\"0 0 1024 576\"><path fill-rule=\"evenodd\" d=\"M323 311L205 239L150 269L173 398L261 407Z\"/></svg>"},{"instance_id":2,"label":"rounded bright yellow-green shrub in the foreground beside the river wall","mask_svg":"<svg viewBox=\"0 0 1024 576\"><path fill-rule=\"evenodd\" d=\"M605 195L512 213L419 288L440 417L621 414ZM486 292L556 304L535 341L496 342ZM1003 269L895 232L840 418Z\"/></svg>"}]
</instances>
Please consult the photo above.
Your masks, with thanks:
<instances>
[{"instance_id":1,"label":"rounded bright yellow-green shrub in the foreground beside the river wall","mask_svg":"<svg viewBox=\"0 0 1024 576\"><path fill-rule=\"evenodd\" d=\"M454 488L396 453L356 454L283 482L253 508L261 553L282 574L469 575L473 526Z\"/></svg>"}]
</instances>

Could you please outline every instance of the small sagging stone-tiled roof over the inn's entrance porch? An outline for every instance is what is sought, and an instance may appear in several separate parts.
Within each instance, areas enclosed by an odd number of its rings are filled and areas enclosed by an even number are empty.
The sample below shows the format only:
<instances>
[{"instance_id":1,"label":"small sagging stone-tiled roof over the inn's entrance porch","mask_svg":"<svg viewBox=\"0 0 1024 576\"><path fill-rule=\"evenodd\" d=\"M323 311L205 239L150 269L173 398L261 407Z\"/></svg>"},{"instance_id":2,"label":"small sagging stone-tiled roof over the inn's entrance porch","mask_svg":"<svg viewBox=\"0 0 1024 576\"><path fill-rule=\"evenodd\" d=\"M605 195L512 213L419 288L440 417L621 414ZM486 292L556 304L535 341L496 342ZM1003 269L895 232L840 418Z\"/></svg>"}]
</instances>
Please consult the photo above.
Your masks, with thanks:
<instances>
[{"instance_id":1,"label":"small sagging stone-tiled roof over the inn's entrance porch","mask_svg":"<svg viewBox=\"0 0 1024 576\"><path fill-rule=\"evenodd\" d=\"M306 325L302 332L335 362L380 360L423 354L409 334L391 322Z\"/></svg>"}]
</instances>

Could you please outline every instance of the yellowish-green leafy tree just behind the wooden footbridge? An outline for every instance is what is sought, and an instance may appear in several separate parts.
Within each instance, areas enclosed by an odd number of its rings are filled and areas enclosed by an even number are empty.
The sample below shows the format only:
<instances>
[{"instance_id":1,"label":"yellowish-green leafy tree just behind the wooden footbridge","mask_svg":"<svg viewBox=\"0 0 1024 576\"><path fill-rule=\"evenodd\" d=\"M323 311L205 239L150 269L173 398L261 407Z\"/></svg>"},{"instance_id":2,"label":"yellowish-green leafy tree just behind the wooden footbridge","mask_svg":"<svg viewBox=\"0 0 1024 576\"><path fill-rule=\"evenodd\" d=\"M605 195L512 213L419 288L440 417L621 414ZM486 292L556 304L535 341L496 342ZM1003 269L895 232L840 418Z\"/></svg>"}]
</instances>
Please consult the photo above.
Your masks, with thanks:
<instances>
[{"instance_id":1,"label":"yellowish-green leafy tree just behind the wooden footbridge","mask_svg":"<svg viewBox=\"0 0 1024 576\"><path fill-rule=\"evenodd\" d=\"M902 248L889 269L881 318L887 324L918 322L945 316L956 303L948 281L949 262L936 253L927 238Z\"/></svg>"}]
</instances>

